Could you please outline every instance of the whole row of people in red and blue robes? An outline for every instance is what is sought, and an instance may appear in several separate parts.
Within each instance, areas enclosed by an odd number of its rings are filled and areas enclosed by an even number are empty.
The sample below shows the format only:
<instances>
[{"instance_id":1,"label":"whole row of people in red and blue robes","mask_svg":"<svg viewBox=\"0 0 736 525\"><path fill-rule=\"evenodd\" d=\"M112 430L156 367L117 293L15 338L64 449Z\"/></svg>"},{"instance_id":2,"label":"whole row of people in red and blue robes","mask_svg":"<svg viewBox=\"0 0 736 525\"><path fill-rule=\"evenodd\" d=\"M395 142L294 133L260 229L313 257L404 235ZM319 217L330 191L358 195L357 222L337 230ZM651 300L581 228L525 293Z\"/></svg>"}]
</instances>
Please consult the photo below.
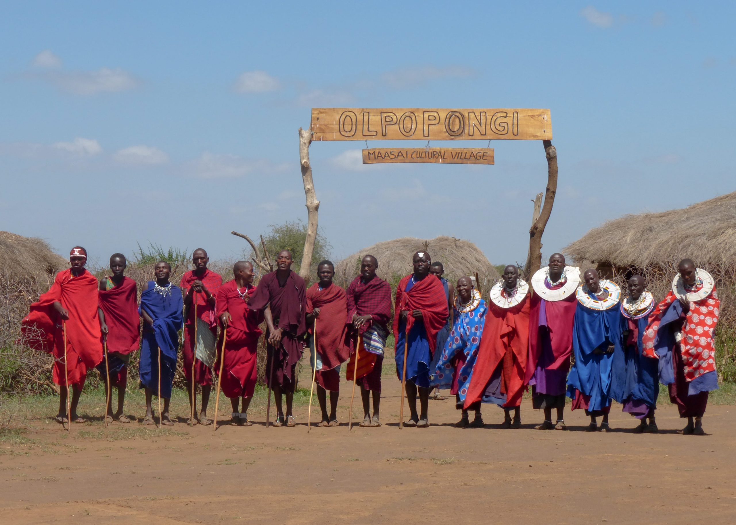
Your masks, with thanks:
<instances>
[{"instance_id":1,"label":"whole row of people in red and blue robes","mask_svg":"<svg viewBox=\"0 0 736 525\"><path fill-rule=\"evenodd\" d=\"M108 402L106 417L128 423L123 414L127 362L140 347L144 423L154 423L152 398L158 396L164 401L160 424L174 424L169 400L178 334L184 328L188 423L212 423L207 409L214 373L230 398L233 423L250 426L247 411L264 321L264 372L275 396L274 426L297 424L292 403L296 366L305 347L311 349L322 412L319 426L339 425L342 364L347 380L360 387L360 426L381 426L381 373L392 320L397 377L409 408L403 426L429 426L430 392L439 387L456 397L461 410L456 426L483 426L481 404L486 403L503 409L503 428L520 428L520 404L531 387L534 409L544 412L536 429L567 429L569 397L571 409L584 409L590 416L589 431L609 430L615 400L640 419L635 431L657 432L654 411L661 381L669 385L670 400L681 417L687 417L681 432L702 434L708 392L718 387L715 283L690 259L680 262L672 291L659 304L640 275L629 278L628 297L622 300L619 287L601 279L595 269L584 272L581 282L579 270L567 266L559 253L534 273L531 286L517 267L507 266L486 300L470 277L459 278L453 286L442 277L442 264L433 264L426 251L419 251L412 256L413 272L397 286L393 316L391 286L376 275L378 260L370 255L362 258L360 275L345 290L333 283L330 261L319 263L318 280L307 288L291 271L289 250L278 254L277 269L263 275L258 286L253 284L250 261L238 261L233 280L223 283L222 276L208 268L209 258L200 248L192 254L194 269L183 275L179 286L169 281L168 263L155 264L155 279L144 286L140 303L135 281L124 275L121 254L110 257L110 275L101 281L85 269L84 248L74 247L69 261L70 268L56 276L22 324L26 344L54 356L54 382L61 387L60 423L84 422L77 404L88 370L94 367L110 382L106 387L118 389L117 409ZM597 417L602 417L600 426Z\"/></svg>"}]
</instances>

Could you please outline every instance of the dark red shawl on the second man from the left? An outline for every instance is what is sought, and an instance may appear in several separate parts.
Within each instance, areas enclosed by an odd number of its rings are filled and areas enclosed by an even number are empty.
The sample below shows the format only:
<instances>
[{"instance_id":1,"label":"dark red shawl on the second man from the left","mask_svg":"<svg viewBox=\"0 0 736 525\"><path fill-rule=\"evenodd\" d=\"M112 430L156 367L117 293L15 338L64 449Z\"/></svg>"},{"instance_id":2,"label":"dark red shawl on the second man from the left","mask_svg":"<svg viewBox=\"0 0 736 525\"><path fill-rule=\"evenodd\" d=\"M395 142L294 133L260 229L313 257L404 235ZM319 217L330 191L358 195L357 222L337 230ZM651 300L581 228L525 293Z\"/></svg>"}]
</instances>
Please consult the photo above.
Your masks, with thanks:
<instances>
[{"instance_id":1,"label":"dark red shawl on the second man from the left","mask_svg":"<svg viewBox=\"0 0 736 525\"><path fill-rule=\"evenodd\" d=\"M108 279L110 279L108 277ZM124 277L109 290L99 290L99 307L107 325L107 351L122 356L138 350L141 342L141 317L138 315L138 288Z\"/></svg>"}]
</instances>

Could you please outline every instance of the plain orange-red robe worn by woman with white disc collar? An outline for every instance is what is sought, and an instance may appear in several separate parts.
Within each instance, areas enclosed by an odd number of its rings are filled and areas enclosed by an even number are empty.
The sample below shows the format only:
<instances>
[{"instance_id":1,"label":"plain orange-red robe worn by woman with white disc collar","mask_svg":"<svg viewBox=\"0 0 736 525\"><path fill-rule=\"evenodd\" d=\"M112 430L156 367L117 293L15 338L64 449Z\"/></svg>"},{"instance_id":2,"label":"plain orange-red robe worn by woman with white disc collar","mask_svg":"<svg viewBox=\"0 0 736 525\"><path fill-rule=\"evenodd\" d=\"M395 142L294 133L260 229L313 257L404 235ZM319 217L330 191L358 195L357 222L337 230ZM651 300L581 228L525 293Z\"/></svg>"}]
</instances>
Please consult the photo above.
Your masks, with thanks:
<instances>
[{"instance_id":1,"label":"plain orange-red robe worn by woman with white disc collar","mask_svg":"<svg viewBox=\"0 0 736 525\"><path fill-rule=\"evenodd\" d=\"M526 297L511 308L502 308L493 301L489 301L486 323L483 327L480 345L478 345L478 359L475 360L470 387L465 396L465 409L475 401L481 401L481 396L491 376L509 351L514 354L515 359L509 374L509 381L506 383L506 392L504 392L506 404L504 406L519 406L526 385L531 305L529 295L531 295L531 286Z\"/></svg>"}]
</instances>

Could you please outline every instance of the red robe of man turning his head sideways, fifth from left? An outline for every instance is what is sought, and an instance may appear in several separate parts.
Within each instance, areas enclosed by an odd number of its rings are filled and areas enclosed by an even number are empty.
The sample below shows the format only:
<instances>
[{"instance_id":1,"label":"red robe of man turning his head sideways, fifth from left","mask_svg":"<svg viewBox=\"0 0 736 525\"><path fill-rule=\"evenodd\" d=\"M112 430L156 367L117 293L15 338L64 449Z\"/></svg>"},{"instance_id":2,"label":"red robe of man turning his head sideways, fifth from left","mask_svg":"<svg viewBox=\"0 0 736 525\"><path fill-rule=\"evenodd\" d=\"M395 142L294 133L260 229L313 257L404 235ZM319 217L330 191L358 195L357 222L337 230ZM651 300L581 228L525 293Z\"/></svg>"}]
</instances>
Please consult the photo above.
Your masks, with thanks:
<instances>
[{"instance_id":1,"label":"red robe of man turning his head sideways, fifth from left","mask_svg":"<svg viewBox=\"0 0 736 525\"><path fill-rule=\"evenodd\" d=\"M248 286L247 294L253 295L256 286ZM242 293L246 293L241 291ZM263 314L248 308L244 298L238 292L238 283L233 279L217 290L217 318L224 312L230 314L227 325L227 341L225 342L224 364L222 368L222 392L228 398L250 398L255 390L258 378L256 369L258 337L263 332L258 325L263 322ZM219 373L222 357L222 337L217 343L217 360L214 370Z\"/></svg>"}]
</instances>

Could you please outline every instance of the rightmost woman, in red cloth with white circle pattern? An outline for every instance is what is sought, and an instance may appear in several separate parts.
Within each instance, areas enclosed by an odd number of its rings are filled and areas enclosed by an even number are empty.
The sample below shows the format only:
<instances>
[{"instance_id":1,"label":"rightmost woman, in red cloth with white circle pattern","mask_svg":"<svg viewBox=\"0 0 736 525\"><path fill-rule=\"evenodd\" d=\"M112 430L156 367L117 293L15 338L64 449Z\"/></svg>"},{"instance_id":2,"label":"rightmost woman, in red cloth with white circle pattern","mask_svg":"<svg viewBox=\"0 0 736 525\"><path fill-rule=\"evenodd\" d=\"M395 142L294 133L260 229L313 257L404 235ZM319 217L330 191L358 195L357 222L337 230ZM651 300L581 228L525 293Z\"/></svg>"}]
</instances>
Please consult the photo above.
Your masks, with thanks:
<instances>
[{"instance_id":1,"label":"rightmost woman, in red cloth with white circle pattern","mask_svg":"<svg viewBox=\"0 0 736 525\"><path fill-rule=\"evenodd\" d=\"M672 290L649 315L644 356L659 358L659 381L669 386L680 417L687 417L678 433L702 436L708 392L718 388L713 333L721 302L710 273L691 259L682 259L677 269Z\"/></svg>"}]
</instances>

